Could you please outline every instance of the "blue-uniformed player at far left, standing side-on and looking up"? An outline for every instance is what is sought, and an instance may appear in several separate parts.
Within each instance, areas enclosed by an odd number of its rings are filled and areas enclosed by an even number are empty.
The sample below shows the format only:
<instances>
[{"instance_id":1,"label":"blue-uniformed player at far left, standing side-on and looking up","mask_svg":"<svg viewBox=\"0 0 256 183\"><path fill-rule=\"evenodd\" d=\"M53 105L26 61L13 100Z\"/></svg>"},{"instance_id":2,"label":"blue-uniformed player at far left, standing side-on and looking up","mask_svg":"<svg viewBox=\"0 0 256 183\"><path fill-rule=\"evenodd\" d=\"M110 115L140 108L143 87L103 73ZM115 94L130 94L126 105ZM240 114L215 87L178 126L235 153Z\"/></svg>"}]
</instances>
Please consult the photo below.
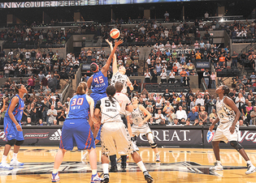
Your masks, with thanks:
<instances>
[{"instance_id":1,"label":"blue-uniformed player at far left, standing side-on and looking up","mask_svg":"<svg viewBox=\"0 0 256 183\"><path fill-rule=\"evenodd\" d=\"M12 169L14 166L22 166L24 164L17 160L17 154L20 150L20 146L24 143L24 136L20 121L24 110L24 94L27 93L26 87L23 84L15 86L15 91L18 95L11 99L11 104L7 109L7 113L4 117L4 132L7 140L7 144L4 148L2 155L2 162L0 168ZM7 164L7 155L14 146L14 153L10 165Z\"/></svg>"}]
</instances>

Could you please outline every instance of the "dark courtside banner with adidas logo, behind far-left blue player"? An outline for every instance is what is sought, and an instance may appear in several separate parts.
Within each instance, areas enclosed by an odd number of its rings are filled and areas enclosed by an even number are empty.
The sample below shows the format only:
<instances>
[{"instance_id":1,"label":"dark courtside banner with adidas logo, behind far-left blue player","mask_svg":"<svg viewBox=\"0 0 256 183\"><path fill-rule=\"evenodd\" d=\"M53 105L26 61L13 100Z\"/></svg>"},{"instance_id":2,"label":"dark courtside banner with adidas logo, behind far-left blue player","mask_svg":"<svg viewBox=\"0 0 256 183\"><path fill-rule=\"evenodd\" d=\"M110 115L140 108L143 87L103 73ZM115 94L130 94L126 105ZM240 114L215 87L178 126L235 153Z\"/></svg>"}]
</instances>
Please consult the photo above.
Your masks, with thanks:
<instances>
[{"instance_id":1,"label":"dark courtside banner with adidas logo, behind far-left blue player","mask_svg":"<svg viewBox=\"0 0 256 183\"><path fill-rule=\"evenodd\" d=\"M61 137L61 129L53 128L38 128L30 129L23 128L24 145L34 146L59 146L59 140ZM4 131L0 130L0 145L6 144L6 137Z\"/></svg>"}]
</instances>

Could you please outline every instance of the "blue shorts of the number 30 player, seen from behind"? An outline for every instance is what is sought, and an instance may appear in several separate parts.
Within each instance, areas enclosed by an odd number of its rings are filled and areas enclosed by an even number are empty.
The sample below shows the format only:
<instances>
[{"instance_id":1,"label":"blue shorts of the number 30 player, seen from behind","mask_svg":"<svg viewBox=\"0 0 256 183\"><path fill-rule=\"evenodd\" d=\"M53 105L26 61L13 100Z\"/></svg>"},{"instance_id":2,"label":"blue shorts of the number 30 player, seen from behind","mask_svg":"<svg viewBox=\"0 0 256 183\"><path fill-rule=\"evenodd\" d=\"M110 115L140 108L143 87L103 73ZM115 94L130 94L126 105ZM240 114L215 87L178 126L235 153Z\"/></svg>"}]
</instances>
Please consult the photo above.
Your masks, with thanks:
<instances>
[{"instance_id":1,"label":"blue shorts of the number 30 player, seen from behind","mask_svg":"<svg viewBox=\"0 0 256 183\"><path fill-rule=\"evenodd\" d=\"M93 132L86 119L70 119L63 124L59 148L72 151L75 146L80 151L95 148Z\"/></svg>"}]
</instances>

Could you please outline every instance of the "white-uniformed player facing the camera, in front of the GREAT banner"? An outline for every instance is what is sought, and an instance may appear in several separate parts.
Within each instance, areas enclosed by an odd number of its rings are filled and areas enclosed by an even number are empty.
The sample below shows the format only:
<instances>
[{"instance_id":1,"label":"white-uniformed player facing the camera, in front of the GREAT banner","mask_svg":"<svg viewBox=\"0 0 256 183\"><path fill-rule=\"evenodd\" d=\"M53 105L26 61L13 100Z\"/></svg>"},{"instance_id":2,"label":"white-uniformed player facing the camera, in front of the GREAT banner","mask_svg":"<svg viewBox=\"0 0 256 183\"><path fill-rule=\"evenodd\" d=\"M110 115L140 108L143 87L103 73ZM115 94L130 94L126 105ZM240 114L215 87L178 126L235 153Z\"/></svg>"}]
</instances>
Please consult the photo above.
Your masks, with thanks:
<instances>
[{"instance_id":1,"label":"white-uniformed player facing the camera, in front of the GREAT banner","mask_svg":"<svg viewBox=\"0 0 256 183\"><path fill-rule=\"evenodd\" d=\"M160 162L160 155L158 153L158 145L154 142L153 134L148 126L147 121L150 120L151 114L146 110L141 104L138 104L139 100L137 96L132 98L133 111L131 113L132 117L132 136L137 137L139 134L145 135L150 143L151 148L154 150L156 155L156 162ZM144 115L146 114L146 117ZM134 138L133 138L134 139ZM133 142L134 143L134 142Z\"/></svg>"}]
</instances>

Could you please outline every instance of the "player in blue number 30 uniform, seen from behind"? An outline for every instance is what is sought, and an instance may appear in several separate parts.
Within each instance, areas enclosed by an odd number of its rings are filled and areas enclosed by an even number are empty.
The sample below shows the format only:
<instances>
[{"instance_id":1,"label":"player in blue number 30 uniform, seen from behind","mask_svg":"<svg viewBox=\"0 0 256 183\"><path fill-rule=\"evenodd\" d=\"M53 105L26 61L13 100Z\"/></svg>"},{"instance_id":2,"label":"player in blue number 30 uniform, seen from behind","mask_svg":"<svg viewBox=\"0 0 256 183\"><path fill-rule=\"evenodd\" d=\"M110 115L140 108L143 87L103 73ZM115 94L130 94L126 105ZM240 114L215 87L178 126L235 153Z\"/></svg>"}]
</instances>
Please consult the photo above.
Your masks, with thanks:
<instances>
[{"instance_id":1,"label":"player in blue number 30 uniform, seen from behind","mask_svg":"<svg viewBox=\"0 0 256 183\"><path fill-rule=\"evenodd\" d=\"M72 151L76 145L77 149L89 151L89 164L92 168L91 182L100 182L102 179L97 173L97 155L93 132L89 126L89 115L95 124L99 123L93 115L94 102L87 96L88 87L85 82L81 82L76 90L76 96L70 100L66 121L63 124L62 136L59 143L59 151L55 156L54 171L51 181L59 181L59 166L63 162L65 152Z\"/></svg>"}]
</instances>

